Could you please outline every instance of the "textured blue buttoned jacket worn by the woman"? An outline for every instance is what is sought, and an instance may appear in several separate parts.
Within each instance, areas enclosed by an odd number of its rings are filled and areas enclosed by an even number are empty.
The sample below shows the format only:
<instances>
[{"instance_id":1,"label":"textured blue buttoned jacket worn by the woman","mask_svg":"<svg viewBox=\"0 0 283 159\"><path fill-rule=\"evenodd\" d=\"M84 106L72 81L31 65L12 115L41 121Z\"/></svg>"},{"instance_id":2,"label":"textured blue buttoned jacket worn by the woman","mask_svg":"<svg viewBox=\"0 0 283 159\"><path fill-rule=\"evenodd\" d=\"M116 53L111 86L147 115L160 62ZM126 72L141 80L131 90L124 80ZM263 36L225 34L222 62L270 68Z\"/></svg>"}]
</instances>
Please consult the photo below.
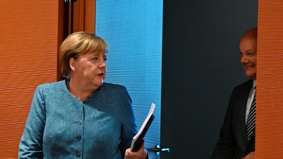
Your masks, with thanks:
<instances>
[{"instance_id":1,"label":"textured blue buttoned jacket worn by the woman","mask_svg":"<svg viewBox=\"0 0 283 159\"><path fill-rule=\"evenodd\" d=\"M19 158L123 158L137 133L124 86L104 83L85 101L66 81L39 85L34 93Z\"/></svg>"}]
</instances>

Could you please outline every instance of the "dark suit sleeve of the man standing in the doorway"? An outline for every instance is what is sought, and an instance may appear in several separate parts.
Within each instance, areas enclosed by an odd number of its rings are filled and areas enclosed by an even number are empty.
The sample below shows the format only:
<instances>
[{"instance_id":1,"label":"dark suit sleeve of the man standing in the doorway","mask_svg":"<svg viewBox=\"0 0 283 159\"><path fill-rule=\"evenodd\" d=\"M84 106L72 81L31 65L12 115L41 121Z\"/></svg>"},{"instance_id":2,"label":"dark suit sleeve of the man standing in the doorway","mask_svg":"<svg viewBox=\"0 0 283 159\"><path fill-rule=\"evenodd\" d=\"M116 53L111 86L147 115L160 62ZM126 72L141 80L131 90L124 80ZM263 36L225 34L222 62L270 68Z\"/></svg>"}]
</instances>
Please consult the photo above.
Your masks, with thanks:
<instances>
[{"instance_id":1,"label":"dark suit sleeve of the man standing in the doorway","mask_svg":"<svg viewBox=\"0 0 283 159\"><path fill-rule=\"evenodd\" d=\"M223 125L220 129L219 140L216 143L211 159L233 158L234 155L234 139L232 132L233 92L229 100Z\"/></svg>"}]
</instances>

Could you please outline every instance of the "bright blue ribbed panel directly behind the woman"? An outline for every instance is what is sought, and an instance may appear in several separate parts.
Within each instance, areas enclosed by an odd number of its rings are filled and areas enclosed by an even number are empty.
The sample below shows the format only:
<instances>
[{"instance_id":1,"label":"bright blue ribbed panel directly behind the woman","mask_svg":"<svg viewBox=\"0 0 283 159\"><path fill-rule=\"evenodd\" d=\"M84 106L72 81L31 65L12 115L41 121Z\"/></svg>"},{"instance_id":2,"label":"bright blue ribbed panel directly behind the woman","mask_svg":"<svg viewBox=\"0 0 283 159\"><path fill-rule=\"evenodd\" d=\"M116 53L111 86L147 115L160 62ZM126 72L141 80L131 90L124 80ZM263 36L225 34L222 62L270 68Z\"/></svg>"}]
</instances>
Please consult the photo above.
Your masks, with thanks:
<instances>
[{"instance_id":1,"label":"bright blue ribbed panel directly behind the woman","mask_svg":"<svg viewBox=\"0 0 283 159\"><path fill-rule=\"evenodd\" d=\"M147 148L160 144L162 11L162 0L96 1L96 34L110 45L105 81L128 89L138 129L156 104Z\"/></svg>"}]
</instances>

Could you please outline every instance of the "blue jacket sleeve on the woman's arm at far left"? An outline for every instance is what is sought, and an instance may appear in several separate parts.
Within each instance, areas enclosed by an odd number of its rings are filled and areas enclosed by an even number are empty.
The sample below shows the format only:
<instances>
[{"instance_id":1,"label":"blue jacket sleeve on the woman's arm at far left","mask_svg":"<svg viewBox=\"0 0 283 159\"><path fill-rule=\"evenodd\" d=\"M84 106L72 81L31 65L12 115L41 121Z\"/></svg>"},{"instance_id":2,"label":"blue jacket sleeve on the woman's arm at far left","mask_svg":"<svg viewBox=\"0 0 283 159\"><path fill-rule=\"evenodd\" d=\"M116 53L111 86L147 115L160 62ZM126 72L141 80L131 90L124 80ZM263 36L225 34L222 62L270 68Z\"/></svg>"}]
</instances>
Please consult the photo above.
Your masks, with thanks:
<instances>
[{"instance_id":1,"label":"blue jacket sleeve on the woman's arm at far left","mask_svg":"<svg viewBox=\"0 0 283 159\"><path fill-rule=\"evenodd\" d=\"M19 158L43 158L42 138L44 126L44 97L40 86L38 86L32 99L25 129L19 144Z\"/></svg>"}]
</instances>

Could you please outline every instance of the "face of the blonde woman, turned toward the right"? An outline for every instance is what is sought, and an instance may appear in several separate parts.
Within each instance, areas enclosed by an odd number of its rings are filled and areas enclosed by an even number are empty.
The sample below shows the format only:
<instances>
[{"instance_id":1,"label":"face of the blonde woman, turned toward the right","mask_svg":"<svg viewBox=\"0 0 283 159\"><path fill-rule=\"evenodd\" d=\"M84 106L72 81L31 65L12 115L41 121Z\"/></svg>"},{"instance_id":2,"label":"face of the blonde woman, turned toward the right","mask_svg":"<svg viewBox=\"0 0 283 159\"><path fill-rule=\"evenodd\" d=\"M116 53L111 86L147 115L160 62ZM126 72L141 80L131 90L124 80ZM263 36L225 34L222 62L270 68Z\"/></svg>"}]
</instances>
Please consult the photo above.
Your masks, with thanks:
<instances>
[{"instance_id":1,"label":"face of the blonde woman, turned toward the right","mask_svg":"<svg viewBox=\"0 0 283 159\"><path fill-rule=\"evenodd\" d=\"M75 59L75 74L81 84L97 89L106 76L106 54L104 51L80 55Z\"/></svg>"}]
</instances>

